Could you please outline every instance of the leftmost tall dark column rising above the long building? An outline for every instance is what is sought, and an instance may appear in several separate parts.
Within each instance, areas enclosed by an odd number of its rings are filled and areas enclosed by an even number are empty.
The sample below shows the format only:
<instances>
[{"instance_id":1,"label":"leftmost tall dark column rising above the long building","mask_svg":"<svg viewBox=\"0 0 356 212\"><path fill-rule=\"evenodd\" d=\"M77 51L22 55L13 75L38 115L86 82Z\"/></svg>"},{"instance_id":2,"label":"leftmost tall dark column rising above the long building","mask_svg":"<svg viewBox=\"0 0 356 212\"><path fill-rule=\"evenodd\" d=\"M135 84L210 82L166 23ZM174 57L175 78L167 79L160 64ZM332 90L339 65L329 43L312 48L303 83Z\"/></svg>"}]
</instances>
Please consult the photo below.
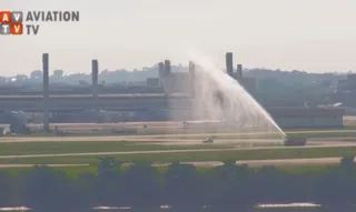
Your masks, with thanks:
<instances>
[{"instance_id":1,"label":"leftmost tall dark column rising above the long building","mask_svg":"<svg viewBox=\"0 0 356 212\"><path fill-rule=\"evenodd\" d=\"M49 131L49 55L43 53L42 55L42 72L43 72L43 130Z\"/></svg>"}]
</instances>

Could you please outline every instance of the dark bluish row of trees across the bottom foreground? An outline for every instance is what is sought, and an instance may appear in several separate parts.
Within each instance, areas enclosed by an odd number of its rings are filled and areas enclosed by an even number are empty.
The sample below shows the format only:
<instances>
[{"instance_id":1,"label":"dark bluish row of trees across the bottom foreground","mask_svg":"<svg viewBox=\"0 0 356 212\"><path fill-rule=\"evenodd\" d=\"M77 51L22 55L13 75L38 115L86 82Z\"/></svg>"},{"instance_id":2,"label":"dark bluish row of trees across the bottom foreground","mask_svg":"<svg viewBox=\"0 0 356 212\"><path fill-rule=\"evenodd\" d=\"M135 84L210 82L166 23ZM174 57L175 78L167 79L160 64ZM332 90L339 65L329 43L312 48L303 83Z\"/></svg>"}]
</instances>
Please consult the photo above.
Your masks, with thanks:
<instances>
[{"instance_id":1,"label":"dark bluish row of trees across the bottom foreground","mask_svg":"<svg viewBox=\"0 0 356 212\"><path fill-rule=\"evenodd\" d=\"M276 168L249 169L225 162L197 170L172 163L165 172L150 164L127 169L112 158L101 159L96 173L76 178L42 165L17 174L0 171L0 206L34 210L86 210L92 206L251 209L258 203L315 202L328 206L356 204L356 165L344 158L325 172L291 173Z\"/></svg>"}]
</instances>

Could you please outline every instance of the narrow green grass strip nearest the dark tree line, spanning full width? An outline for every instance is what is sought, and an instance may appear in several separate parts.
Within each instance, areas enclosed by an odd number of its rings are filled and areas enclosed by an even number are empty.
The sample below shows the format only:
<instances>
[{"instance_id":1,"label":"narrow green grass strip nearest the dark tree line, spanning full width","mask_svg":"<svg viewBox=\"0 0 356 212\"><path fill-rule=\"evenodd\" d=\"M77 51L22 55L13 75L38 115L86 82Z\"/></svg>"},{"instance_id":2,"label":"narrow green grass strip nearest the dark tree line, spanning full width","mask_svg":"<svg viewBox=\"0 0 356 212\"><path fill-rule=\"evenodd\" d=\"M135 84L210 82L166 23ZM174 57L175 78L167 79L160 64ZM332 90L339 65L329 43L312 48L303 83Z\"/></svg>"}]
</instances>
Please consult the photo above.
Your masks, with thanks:
<instances>
[{"instance_id":1,"label":"narrow green grass strip nearest the dark tree line, spanning full width","mask_svg":"<svg viewBox=\"0 0 356 212\"><path fill-rule=\"evenodd\" d=\"M268 159L309 159L356 155L356 147L347 148L287 148L264 150L229 150L205 152L162 152L162 153L135 153L112 154L125 162L191 162L191 161L226 161L226 160L268 160ZM0 159L1 164L97 164L100 155L81 157L38 157Z\"/></svg>"}]
</instances>

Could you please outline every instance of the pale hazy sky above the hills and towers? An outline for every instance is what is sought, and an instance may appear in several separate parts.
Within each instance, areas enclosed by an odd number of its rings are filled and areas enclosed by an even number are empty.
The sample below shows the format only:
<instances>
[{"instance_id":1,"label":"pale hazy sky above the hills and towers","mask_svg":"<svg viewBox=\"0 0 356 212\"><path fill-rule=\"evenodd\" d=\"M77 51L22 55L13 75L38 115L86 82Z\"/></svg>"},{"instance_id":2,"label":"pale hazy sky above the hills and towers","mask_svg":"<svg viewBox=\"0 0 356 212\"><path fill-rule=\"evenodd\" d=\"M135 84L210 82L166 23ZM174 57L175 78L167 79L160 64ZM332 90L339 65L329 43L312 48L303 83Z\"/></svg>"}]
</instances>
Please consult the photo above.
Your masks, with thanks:
<instances>
[{"instance_id":1,"label":"pale hazy sky above the hills and towers","mask_svg":"<svg viewBox=\"0 0 356 212\"><path fill-rule=\"evenodd\" d=\"M187 64L199 51L224 67L356 70L356 0L0 0L1 9L79 10L80 22L40 23L39 36L0 37L0 74L90 72ZM1 10L0 9L0 10Z\"/></svg>"}]
</instances>

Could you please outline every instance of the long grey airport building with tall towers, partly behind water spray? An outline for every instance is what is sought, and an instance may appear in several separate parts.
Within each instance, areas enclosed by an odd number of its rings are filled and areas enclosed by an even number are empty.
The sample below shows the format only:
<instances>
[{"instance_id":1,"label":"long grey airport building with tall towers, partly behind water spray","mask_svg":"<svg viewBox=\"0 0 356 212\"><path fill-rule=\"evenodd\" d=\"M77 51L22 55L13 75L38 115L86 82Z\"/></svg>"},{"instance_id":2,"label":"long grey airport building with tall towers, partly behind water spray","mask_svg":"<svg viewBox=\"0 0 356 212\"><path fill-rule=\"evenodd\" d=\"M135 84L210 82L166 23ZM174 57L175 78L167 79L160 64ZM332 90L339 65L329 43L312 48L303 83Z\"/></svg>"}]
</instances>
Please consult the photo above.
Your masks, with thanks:
<instances>
[{"instance_id":1,"label":"long grey airport building with tall towers, partly behind water spray","mask_svg":"<svg viewBox=\"0 0 356 212\"><path fill-rule=\"evenodd\" d=\"M159 63L159 78L148 79L148 87L162 87L165 93L108 94L98 90L99 62L92 60L91 94L50 95L48 81L49 55L43 54L43 94L0 97L0 110L44 112L44 128L51 122L92 122L88 111L117 111L115 121L190 121L191 102L195 99L195 64L189 71L172 73L170 61ZM236 69L234 69L236 67ZM254 93L257 80L244 78L243 65L234 65L233 53L226 54L226 70L245 89ZM343 127L344 110L317 108L267 108L281 128L339 128ZM85 111L85 113L83 113ZM51 115L50 115L51 114ZM83 115L85 114L85 115ZM96 117L98 112L95 113ZM128 115L129 114L129 115ZM51 119L50 119L51 117ZM56 119L57 117L57 119ZM67 118L66 118L67 117ZM6 122L6 120L2 120ZM111 120L112 121L112 120Z\"/></svg>"}]
</instances>

